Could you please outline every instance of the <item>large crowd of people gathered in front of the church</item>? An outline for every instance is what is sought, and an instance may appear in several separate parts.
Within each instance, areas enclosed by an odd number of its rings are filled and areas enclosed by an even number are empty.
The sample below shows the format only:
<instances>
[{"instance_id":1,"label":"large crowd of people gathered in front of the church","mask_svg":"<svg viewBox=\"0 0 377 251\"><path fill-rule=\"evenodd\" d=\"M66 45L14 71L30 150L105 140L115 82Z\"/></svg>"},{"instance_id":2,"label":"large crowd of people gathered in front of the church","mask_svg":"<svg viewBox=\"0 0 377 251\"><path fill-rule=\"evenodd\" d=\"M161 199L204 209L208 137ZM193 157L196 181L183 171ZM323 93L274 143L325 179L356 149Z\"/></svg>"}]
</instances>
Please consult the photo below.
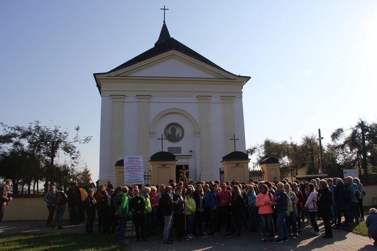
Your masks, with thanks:
<instances>
[{"instance_id":1,"label":"large crowd of people gathered in front of the church","mask_svg":"<svg viewBox=\"0 0 377 251\"><path fill-rule=\"evenodd\" d=\"M311 225L311 234L321 235L318 219L322 219L325 227L322 237L332 238L333 229L364 220L362 200L365 195L357 178L338 178L336 184L333 183L331 178L305 183L288 179L278 182L274 178L274 182L260 180L250 184L187 179L185 184L169 180L166 186L114 188L109 182L98 189L92 183L87 193L75 183L66 193L62 187L55 191L51 186L45 196L49 211L47 225L55 227L57 224L62 228L62 215L68 202L70 224L83 220L85 211L86 233L94 233L97 213L98 232L113 237L119 234L124 243L129 242L125 229L130 219L138 241L146 241L160 228L163 242L167 244L173 241L172 228L176 240L182 241L205 235L204 227L213 237L220 236L221 232L223 237L241 237L244 230L260 232L264 242L281 243L290 236L300 236L302 224ZM61 205L57 201L61 201ZM371 213L376 214L377 211ZM372 225L373 228L375 223ZM373 233L370 236L373 237Z\"/></svg>"}]
</instances>

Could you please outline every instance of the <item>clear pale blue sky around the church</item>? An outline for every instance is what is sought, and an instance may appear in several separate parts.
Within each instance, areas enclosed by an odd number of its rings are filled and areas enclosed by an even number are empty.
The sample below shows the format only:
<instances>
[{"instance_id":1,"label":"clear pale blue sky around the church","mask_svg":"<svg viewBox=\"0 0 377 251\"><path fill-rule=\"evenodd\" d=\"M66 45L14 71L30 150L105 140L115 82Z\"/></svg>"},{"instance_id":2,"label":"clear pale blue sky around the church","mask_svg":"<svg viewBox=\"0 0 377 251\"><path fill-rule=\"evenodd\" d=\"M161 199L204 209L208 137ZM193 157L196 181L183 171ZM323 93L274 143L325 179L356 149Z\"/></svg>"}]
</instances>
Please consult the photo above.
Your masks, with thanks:
<instances>
[{"instance_id":1,"label":"clear pale blue sky around the church","mask_svg":"<svg viewBox=\"0 0 377 251\"><path fill-rule=\"evenodd\" d=\"M101 96L93 73L170 36L243 88L246 148L300 142L377 121L377 1L0 1L0 122L60 126L99 174ZM63 156L58 161L63 161Z\"/></svg>"}]
</instances>

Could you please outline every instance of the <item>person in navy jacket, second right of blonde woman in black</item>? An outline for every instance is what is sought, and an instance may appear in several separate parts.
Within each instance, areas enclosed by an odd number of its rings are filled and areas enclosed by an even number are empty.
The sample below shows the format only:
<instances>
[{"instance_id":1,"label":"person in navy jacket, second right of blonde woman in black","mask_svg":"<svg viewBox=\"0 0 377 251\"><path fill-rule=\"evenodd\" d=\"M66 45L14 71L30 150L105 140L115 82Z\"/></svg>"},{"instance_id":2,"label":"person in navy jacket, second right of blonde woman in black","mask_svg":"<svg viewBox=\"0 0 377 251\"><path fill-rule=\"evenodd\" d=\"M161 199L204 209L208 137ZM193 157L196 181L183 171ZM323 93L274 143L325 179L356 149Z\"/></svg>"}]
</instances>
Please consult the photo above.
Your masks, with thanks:
<instances>
[{"instance_id":1,"label":"person in navy jacket, second right of blonde woman in black","mask_svg":"<svg viewBox=\"0 0 377 251\"><path fill-rule=\"evenodd\" d=\"M334 200L336 205L336 211L337 211L337 222L336 225L333 226L334 229L340 229L341 222L342 222L342 213L344 215L344 226L348 226L348 208L349 208L349 190L346 188L346 186L343 183L343 180L341 178L338 178L336 180L336 187L335 187L335 193L334 193Z\"/></svg>"}]
</instances>

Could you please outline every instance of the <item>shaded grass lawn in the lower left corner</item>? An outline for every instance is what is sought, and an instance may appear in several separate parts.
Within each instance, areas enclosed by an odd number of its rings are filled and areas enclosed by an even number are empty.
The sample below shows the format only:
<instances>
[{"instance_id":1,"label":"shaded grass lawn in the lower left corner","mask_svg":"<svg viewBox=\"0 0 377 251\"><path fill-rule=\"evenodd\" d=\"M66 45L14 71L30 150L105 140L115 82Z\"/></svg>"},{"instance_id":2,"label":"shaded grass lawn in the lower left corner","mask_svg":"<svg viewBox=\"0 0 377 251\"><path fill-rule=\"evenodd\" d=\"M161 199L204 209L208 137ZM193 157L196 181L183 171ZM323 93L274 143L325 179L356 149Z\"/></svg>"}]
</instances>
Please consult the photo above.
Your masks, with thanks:
<instances>
[{"instance_id":1,"label":"shaded grass lawn in the lower left corner","mask_svg":"<svg viewBox=\"0 0 377 251\"><path fill-rule=\"evenodd\" d=\"M0 238L0 250L123 250L125 244L107 234L17 233Z\"/></svg>"}]
</instances>

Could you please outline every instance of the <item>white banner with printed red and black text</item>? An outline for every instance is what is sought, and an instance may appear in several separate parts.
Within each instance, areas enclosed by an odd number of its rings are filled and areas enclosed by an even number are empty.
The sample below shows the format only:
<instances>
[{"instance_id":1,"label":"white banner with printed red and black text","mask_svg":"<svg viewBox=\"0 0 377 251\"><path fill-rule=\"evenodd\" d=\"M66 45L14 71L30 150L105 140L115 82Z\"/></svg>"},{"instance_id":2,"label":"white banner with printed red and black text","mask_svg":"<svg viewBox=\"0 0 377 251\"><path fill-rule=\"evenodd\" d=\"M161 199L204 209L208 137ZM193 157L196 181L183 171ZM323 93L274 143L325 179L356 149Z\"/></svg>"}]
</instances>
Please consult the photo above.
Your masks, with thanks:
<instances>
[{"instance_id":1,"label":"white banner with printed red and black text","mask_svg":"<svg viewBox=\"0 0 377 251\"><path fill-rule=\"evenodd\" d=\"M144 184L143 156L124 157L124 184Z\"/></svg>"}]
</instances>

